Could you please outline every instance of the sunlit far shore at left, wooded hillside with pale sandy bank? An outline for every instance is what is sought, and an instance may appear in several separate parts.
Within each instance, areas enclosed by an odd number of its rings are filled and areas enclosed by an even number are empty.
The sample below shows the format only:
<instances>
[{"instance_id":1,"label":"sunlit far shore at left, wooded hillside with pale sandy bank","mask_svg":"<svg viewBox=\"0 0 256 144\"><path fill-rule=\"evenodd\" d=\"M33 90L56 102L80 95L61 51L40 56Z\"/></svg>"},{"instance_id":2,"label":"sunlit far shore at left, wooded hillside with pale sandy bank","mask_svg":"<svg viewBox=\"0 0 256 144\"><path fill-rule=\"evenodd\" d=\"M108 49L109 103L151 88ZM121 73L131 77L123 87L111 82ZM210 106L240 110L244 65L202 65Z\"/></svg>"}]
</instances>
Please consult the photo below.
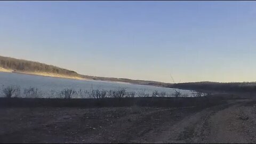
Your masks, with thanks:
<instances>
[{"instance_id":1,"label":"sunlit far shore at left, wooded hillside with pale sandy bank","mask_svg":"<svg viewBox=\"0 0 256 144\"><path fill-rule=\"evenodd\" d=\"M151 85L157 87L168 87L169 83L134 80L129 78L115 78L115 77L99 77L88 76L76 73L76 71L59 68L57 66L46 65L45 63L28 61L22 59L15 59L10 57L0 56L0 71L9 73L19 73L37 76L59 77L69 79L79 79L86 81L101 81L101 82L115 82L120 84L139 84L139 85Z\"/></svg>"}]
</instances>

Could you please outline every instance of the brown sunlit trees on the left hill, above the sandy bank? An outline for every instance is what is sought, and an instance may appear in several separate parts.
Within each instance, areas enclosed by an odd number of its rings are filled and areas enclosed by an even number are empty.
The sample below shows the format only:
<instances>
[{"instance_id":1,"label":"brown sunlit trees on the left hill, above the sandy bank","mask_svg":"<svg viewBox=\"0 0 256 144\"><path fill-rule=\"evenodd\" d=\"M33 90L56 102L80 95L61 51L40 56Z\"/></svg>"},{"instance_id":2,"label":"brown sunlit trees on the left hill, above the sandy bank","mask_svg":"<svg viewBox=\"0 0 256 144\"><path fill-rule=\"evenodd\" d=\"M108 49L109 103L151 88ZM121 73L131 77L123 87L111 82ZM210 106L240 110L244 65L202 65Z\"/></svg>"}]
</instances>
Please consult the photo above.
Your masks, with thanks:
<instances>
[{"instance_id":1,"label":"brown sunlit trees on the left hill, above the sandy bank","mask_svg":"<svg viewBox=\"0 0 256 144\"><path fill-rule=\"evenodd\" d=\"M59 68L52 65L46 65L40 62L20 60L2 56L0 56L0 67L3 67L5 69L12 69L14 71L37 71L68 76L78 76L78 74L75 71Z\"/></svg>"}]
</instances>

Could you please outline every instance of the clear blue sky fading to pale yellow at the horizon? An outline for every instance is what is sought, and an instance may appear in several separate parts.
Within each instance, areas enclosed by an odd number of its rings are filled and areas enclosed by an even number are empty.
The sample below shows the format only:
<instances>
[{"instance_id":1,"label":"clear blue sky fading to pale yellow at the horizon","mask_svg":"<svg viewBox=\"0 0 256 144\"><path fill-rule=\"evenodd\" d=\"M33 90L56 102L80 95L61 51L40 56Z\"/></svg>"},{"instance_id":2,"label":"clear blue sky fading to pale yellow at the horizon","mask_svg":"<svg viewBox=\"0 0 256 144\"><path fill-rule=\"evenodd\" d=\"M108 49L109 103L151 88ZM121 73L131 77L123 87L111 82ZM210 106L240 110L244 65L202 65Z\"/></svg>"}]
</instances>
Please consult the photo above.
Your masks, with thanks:
<instances>
[{"instance_id":1,"label":"clear blue sky fading to pale yellow at the horizon","mask_svg":"<svg viewBox=\"0 0 256 144\"><path fill-rule=\"evenodd\" d=\"M1 1L0 55L79 74L255 82L255 1Z\"/></svg>"}]
</instances>

